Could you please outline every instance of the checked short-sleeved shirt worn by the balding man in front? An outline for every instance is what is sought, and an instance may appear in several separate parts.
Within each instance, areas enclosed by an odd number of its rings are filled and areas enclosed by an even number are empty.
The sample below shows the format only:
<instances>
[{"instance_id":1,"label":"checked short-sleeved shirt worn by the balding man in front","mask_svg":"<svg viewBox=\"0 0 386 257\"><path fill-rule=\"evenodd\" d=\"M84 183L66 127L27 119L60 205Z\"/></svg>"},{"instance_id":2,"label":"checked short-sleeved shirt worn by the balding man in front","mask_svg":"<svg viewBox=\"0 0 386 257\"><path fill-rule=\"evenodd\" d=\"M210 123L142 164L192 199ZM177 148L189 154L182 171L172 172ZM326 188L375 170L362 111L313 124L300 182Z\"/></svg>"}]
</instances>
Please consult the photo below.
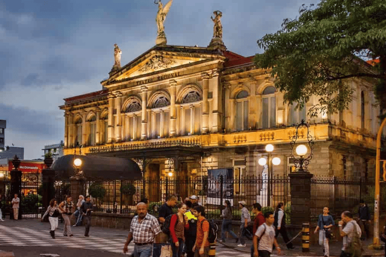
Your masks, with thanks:
<instances>
[{"instance_id":1,"label":"checked short-sleeved shirt worn by the balding man in front","mask_svg":"<svg viewBox=\"0 0 386 257\"><path fill-rule=\"evenodd\" d=\"M133 234L135 243L150 243L154 241L157 234L161 233L161 228L157 218L147 213L141 222L138 221L138 215L133 217L130 232Z\"/></svg>"}]
</instances>

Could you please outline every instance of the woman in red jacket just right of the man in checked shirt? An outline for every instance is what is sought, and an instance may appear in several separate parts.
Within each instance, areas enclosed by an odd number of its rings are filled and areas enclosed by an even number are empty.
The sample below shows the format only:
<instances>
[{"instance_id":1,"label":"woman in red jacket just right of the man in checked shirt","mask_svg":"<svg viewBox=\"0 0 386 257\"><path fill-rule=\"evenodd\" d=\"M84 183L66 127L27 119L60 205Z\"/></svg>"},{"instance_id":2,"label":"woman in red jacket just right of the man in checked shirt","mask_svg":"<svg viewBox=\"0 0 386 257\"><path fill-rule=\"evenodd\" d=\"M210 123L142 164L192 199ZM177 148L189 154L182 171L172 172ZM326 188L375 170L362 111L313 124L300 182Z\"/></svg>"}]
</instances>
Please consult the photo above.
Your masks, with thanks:
<instances>
[{"instance_id":1,"label":"woman in red jacket just right of the man in checked shirt","mask_svg":"<svg viewBox=\"0 0 386 257\"><path fill-rule=\"evenodd\" d=\"M177 204L177 208L177 213L171 216L169 228L173 257L182 256L183 242L185 241L184 229L189 229L187 217L184 215L186 212L186 205L184 203L179 203Z\"/></svg>"}]
</instances>

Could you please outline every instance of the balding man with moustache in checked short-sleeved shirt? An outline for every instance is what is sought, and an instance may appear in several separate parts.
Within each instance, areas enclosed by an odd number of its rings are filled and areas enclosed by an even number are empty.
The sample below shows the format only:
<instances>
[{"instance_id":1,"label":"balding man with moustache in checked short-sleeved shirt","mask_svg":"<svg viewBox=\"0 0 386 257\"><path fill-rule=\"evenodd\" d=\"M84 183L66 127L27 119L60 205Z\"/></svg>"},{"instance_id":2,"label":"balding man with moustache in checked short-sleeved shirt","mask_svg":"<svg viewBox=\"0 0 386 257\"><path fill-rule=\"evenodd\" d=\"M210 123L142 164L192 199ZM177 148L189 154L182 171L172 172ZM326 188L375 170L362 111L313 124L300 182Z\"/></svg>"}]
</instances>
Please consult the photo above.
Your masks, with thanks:
<instances>
[{"instance_id":1,"label":"balding man with moustache in checked short-sleeved shirt","mask_svg":"<svg viewBox=\"0 0 386 257\"><path fill-rule=\"evenodd\" d=\"M130 232L127 236L123 252L128 251L127 246L134 240L134 257L151 257L153 255L153 242L159 242L159 227L156 217L147 213L146 203L137 204L137 216L133 217Z\"/></svg>"}]
</instances>

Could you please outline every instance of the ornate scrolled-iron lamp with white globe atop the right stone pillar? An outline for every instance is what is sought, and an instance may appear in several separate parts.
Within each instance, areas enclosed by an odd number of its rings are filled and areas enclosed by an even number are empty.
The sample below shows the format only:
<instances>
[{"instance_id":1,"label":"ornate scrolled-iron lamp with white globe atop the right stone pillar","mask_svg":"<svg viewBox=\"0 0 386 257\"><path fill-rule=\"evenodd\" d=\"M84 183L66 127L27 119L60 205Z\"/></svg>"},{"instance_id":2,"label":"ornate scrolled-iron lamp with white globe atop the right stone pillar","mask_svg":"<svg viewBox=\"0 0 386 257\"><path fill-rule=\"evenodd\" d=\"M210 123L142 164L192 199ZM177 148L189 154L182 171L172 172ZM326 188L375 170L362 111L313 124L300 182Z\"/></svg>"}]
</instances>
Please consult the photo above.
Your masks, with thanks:
<instances>
[{"instance_id":1,"label":"ornate scrolled-iron lamp with white globe atop the right stone pillar","mask_svg":"<svg viewBox=\"0 0 386 257\"><path fill-rule=\"evenodd\" d=\"M307 142L308 144L297 144L299 139L299 129L307 129ZM302 133L303 135L303 133ZM307 146L308 145L308 146ZM295 148L296 146L296 148ZM294 148L296 154L294 154ZM291 157L294 159L294 164L296 166L296 171L300 173L308 173L307 166L310 164L312 159L312 150L314 149L314 140L310 134L310 125L307 124L304 119L296 127L296 133L292 137L291 141ZM310 151L309 151L310 150ZM308 154L309 153L309 154ZM308 155L307 155L308 154Z\"/></svg>"}]
</instances>

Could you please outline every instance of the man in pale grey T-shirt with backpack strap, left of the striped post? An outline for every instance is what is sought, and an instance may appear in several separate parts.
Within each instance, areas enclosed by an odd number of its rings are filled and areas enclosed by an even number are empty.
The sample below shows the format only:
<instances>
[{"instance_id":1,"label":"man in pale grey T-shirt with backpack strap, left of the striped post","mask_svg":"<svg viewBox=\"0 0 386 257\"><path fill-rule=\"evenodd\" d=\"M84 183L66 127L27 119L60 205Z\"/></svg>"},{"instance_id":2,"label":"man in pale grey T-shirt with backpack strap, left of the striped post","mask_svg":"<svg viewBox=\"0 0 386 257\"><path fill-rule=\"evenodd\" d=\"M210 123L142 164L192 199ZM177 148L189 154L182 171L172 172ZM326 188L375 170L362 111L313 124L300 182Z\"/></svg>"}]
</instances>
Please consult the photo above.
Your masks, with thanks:
<instances>
[{"instance_id":1,"label":"man in pale grey T-shirt with backpack strap, left of the striped post","mask_svg":"<svg viewBox=\"0 0 386 257\"><path fill-rule=\"evenodd\" d=\"M273 213L267 211L264 214L265 223L257 228L253 236L253 256L254 257L269 257L272 252L272 245L274 244L277 253L280 254L280 247L275 238L275 227L273 226Z\"/></svg>"}]
</instances>

